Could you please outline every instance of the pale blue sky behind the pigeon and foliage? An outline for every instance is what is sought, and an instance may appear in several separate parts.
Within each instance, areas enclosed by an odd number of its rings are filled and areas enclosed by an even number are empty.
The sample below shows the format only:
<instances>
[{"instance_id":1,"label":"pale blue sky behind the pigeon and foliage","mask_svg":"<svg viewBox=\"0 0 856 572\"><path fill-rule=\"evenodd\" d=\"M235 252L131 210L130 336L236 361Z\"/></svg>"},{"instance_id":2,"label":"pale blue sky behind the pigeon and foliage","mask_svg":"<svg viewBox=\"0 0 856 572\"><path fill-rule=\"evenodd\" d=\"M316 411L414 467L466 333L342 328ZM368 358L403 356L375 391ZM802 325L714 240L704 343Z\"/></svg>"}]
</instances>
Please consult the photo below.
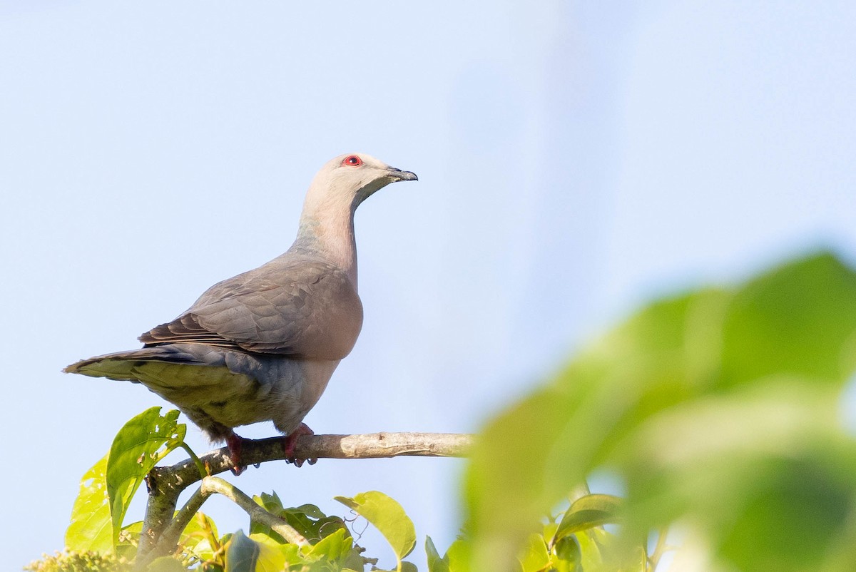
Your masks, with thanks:
<instances>
[{"instance_id":1,"label":"pale blue sky behind the pigeon and foliage","mask_svg":"<svg viewBox=\"0 0 856 572\"><path fill-rule=\"evenodd\" d=\"M366 321L316 432L474 431L652 296L812 247L856 259L854 25L843 1L0 1L4 557L60 548L80 475L167 405L62 366L282 253L339 153L419 182L357 213ZM461 468L235 483L339 514L381 490L442 550Z\"/></svg>"}]
</instances>

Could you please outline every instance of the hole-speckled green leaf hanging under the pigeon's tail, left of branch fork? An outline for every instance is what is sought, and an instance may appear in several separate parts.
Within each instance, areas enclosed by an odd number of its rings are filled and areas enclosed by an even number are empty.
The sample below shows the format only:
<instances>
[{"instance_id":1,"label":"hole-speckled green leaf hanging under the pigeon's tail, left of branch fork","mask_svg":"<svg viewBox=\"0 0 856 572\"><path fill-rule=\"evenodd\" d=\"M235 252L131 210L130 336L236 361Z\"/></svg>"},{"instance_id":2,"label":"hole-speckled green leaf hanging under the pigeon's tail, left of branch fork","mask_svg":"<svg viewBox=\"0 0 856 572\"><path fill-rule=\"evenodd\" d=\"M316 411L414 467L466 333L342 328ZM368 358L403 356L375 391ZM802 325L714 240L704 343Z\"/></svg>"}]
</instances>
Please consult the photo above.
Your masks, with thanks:
<instances>
[{"instance_id":1,"label":"hole-speckled green leaf hanging under the pigeon's tail, left of branch fork","mask_svg":"<svg viewBox=\"0 0 856 572\"><path fill-rule=\"evenodd\" d=\"M119 542L122 521L134 492L169 451L183 444L187 426L176 422L178 411L160 414L159 407L146 409L129 420L116 433L107 460L107 493L110 496L110 517L113 524L113 544ZM160 449L166 445L165 450Z\"/></svg>"}]
</instances>

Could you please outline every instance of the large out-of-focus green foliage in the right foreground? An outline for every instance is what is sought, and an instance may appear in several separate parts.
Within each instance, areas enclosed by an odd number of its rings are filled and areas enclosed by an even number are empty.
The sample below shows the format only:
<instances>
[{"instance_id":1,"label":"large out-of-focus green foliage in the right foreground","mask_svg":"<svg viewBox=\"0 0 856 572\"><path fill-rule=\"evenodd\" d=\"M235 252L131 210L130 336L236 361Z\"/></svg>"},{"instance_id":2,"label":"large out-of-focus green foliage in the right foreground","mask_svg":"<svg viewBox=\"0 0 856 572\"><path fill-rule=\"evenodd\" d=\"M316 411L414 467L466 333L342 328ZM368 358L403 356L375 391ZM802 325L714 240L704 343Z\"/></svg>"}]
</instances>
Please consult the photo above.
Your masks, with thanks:
<instances>
[{"instance_id":1,"label":"large out-of-focus green foliage in the right foreground","mask_svg":"<svg viewBox=\"0 0 856 572\"><path fill-rule=\"evenodd\" d=\"M829 253L645 307L485 428L467 471L473 569L514 569L596 470L627 487L626 557L677 525L701 569L856 569L854 365L856 274Z\"/></svg>"}]
</instances>

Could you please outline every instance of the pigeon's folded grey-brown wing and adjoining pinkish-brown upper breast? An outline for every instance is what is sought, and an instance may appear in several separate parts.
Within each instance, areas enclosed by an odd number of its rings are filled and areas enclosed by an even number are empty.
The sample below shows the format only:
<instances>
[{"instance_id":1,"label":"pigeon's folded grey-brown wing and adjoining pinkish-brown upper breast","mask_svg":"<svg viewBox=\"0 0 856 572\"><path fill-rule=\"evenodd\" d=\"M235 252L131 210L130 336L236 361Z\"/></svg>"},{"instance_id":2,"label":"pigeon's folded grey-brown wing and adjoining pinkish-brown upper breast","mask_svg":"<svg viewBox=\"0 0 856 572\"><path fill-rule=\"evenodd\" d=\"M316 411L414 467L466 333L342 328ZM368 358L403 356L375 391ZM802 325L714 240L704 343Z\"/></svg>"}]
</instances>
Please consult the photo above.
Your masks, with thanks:
<instances>
[{"instance_id":1,"label":"pigeon's folded grey-brown wing and adjoining pinkish-brown upper breast","mask_svg":"<svg viewBox=\"0 0 856 572\"><path fill-rule=\"evenodd\" d=\"M215 284L187 312L146 332L140 342L341 360L354 347L362 317L360 297L341 269L287 253Z\"/></svg>"}]
</instances>

